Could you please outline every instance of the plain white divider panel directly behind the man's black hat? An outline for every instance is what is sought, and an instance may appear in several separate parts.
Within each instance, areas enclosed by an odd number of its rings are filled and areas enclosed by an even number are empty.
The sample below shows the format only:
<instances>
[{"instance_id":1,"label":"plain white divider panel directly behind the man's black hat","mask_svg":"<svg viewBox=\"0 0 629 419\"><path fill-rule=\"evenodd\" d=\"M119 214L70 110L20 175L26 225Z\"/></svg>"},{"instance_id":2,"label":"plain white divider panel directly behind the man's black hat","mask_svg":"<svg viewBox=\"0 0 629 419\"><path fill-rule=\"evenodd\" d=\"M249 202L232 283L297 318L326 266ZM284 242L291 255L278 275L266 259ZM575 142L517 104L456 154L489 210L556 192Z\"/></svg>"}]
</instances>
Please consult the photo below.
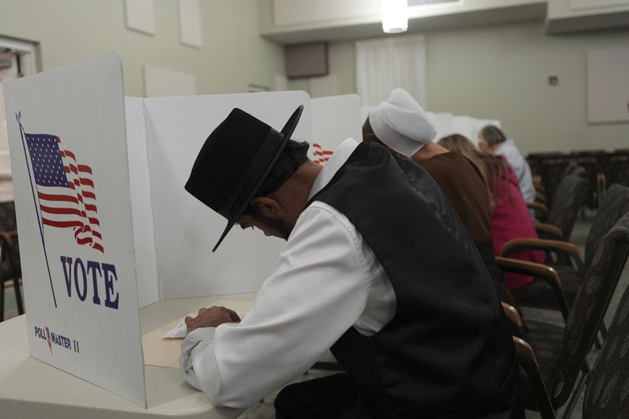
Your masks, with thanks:
<instances>
[{"instance_id":1,"label":"plain white divider panel directly behind the man's black hat","mask_svg":"<svg viewBox=\"0 0 629 419\"><path fill-rule=\"evenodd\" d=\"M284 241L236 225L212 253L227 222L184 185L201 145L233 108L279 131L300 104L304 111L292 138L310 142L310 97L305 92L145 99L161 299L259 290Z\"/></svg>"}]
</instances>

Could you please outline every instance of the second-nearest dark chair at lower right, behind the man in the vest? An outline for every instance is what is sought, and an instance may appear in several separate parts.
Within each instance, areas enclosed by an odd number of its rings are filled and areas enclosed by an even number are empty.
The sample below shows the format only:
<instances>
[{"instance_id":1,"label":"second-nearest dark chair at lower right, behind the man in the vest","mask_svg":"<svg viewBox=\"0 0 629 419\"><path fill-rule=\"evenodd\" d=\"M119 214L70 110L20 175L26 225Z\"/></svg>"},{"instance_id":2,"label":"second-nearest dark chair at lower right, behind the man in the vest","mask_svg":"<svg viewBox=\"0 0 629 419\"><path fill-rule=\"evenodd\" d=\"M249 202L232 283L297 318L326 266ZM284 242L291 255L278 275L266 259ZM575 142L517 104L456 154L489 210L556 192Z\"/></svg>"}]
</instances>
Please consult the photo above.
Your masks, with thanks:
<instances>
[{"instance_id":1,"label":"second-nearest dark chair at lower right, behind the man in the vest","mask_svg":"<svg viewBox=\"0 0 629 419\"><path fill-rule=\"evenodd\" d=\"M535 369L531 367L533 361L523 365L526 374L522 377L522 389L526 409L542 411L550 403L556 410L570 401L564 418L570 417L575 396L579 395L588 372L586 356L602 325L628 256L629 213L605 236L570 308L565 327L526 321L526 336L533 347L537 365ZM583 374L579 379L581 371ZM543 387L540 382L544 383Z\"/></svg>"}]
</instances>

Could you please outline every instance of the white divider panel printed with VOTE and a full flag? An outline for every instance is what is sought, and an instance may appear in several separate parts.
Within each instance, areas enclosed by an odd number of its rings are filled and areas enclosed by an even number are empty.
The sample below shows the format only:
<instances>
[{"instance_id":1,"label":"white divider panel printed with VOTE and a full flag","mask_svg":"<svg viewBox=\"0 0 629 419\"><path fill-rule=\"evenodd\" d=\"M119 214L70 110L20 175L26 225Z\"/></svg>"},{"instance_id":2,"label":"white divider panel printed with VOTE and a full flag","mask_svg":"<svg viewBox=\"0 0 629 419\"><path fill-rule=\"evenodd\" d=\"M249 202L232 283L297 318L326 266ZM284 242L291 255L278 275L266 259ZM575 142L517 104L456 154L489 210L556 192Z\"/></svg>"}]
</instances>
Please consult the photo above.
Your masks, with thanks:
<instances>
[{"instance_id":1,"label":"white divider panel printed with VOTE and a full flag","mask_svg":"<svg viewBox=\"0 0 629 419\"><path fill-rule=\"evenodd\" d=\"M5 99L31 356L146 406L120 57Z\"/></svg>"}]
</instances>

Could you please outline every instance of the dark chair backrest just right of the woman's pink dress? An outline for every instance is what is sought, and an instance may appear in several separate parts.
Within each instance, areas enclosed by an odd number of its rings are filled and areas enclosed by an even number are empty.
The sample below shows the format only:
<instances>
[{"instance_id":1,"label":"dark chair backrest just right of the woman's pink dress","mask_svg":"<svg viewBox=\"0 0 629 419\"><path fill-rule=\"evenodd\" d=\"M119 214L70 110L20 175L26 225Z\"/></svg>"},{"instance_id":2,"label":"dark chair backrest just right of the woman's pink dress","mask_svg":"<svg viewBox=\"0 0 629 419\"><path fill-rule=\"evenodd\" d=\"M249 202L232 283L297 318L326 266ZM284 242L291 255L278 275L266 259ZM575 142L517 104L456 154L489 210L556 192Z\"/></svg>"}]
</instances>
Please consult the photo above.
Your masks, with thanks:
<instances>
[{"instance_id":1,"label":"dark chair backrest just right of the woman's pink dress","mask_svg":"<svg viewBox=\"0 0 629 419\"><path fill-rule=\"evenodd\" d=\"M564 176L557 187L546 222L559 227L564 240L570 240L587 187L584 178L573 175Z\"/></svg>"}]
</instances>

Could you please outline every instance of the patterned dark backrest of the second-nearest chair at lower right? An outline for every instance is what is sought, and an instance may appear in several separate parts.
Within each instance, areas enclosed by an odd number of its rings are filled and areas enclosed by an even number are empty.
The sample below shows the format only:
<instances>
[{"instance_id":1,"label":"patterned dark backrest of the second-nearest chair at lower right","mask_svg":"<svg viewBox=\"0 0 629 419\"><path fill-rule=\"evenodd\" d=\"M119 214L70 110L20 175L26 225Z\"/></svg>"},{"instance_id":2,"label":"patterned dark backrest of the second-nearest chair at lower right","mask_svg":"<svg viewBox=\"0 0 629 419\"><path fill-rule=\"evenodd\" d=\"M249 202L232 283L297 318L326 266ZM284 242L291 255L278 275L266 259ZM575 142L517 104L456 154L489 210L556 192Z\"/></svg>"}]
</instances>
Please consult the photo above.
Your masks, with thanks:
<instances>
[{"instance_id":1,"label":"patterned dark backrest of the second-nearest chair at lower right","mask_svg":"<svg viewBox=\"0 0 629 419\"><path fill-rule=\"evenodd\" d=\"M561 354L561 372L564 384L556 395L555 406L561 406L570 397L583 362L605 311L612 299L618 280L629 256L629 213L616 222L603 239L579 294L574 299L566 320ZM609 339L609 338L608 338Z\"/></svg>"}]
</instances>

